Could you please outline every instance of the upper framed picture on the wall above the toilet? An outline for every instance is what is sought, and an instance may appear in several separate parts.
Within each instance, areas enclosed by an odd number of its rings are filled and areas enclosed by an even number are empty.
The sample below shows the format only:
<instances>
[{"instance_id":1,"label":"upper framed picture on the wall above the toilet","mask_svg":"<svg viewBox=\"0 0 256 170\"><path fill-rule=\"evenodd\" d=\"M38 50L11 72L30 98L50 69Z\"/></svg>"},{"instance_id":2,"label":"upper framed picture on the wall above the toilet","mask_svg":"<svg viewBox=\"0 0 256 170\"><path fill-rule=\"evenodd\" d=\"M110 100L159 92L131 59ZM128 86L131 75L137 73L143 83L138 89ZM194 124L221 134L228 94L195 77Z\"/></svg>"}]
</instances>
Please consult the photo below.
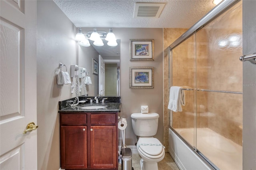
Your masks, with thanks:
<instances>
[{"instance_id":1,"label":"upper framed picture on the wall above the toilet","mask_svg":"<svg viewBox=\"0 0 256 170\"><path fill-rule=\"evenodd\" d=\"M130 39L130 61L154 61L154 40Z\"/></svg>"}]
</instances>

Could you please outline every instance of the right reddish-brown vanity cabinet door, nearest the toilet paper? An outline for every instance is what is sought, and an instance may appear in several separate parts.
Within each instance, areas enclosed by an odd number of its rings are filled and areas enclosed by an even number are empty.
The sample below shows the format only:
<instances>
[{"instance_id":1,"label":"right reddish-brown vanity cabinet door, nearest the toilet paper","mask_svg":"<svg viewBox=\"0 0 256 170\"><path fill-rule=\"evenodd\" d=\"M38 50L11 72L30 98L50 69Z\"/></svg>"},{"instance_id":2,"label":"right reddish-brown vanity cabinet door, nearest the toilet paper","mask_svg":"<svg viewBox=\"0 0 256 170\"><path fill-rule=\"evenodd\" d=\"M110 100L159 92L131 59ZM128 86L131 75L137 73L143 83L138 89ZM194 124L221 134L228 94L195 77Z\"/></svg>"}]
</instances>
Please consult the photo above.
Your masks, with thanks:
<instances>
[{"instance_id":1,"label":"right reddish-brown vanity cabinet door, nearest the toilet paper","mask_svg":"<svg viewBox=\"0 0 256 170\"><path fill-rule=\"evenodd\" d=\"M116 126L91 126L91 168L117 168Z\"/></svg>"}]
</instances>

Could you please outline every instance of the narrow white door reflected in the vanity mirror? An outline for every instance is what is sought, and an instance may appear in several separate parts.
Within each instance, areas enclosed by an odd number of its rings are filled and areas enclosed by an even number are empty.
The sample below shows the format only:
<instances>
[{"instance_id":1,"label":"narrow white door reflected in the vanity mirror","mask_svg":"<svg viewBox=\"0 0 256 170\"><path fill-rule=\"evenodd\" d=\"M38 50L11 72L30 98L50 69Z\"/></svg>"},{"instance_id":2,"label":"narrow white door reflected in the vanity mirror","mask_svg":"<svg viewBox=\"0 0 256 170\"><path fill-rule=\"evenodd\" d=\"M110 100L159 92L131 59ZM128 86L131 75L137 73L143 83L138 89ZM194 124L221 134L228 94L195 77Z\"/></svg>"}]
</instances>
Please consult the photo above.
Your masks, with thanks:
<instances>
[{"instance_id":1,"label":"narrow white door reflected in the vanity mirror","mask_svg":"<svg viewBox=\"0 0 256 170\"><path fill-rule=\"evenodd\" d=\"M105 61L99 55L99 95L104 96L105 95Z\"/></svg>"}]
</instances>

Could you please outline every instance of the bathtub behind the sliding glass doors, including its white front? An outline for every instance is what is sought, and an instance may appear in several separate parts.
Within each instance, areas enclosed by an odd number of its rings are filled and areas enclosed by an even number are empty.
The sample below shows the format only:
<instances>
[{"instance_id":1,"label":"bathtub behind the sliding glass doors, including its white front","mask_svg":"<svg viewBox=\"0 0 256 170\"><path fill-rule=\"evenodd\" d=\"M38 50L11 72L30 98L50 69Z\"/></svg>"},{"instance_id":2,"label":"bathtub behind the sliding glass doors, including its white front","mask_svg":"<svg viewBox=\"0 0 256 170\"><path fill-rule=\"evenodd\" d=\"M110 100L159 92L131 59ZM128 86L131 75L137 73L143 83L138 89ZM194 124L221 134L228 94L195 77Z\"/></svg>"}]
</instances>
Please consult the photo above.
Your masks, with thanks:
<instances>
[{"instance_id":1,"label":"bathtub behind the sliding glass doors, including its white front","mask_svg":"<svg viewBox=\"0 0 256 170\"><path fill-rule=\"evenodd\" d=\"M175 130L188 143L195 146L194 128L176 128ZM218 168L221 170L242 169L242 146L209 128L197 128L197 134L197 149ZM212 169L172 129L169 129L169 152L182 170Z\"/></svg>"}]
</instances>

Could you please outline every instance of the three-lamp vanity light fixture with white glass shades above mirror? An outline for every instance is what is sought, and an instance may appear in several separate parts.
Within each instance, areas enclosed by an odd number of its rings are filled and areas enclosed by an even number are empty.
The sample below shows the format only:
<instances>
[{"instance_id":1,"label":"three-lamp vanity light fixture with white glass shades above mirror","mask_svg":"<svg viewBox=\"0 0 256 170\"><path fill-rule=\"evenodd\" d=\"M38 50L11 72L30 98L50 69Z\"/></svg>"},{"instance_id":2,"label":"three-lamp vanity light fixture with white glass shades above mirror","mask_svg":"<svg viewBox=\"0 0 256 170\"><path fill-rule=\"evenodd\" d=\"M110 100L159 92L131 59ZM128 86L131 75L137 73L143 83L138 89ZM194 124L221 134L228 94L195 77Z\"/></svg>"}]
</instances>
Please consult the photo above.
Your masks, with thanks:
<instances>
[{"instance_id":1,"label":"three-lamp vanity light fixture with white glass shades above mirror","mask_svg":"<svg viewBox=\"0 0 256 170\"><path fill-rule=\"evenodd\" d=\"M87 32L87 33L82 33L82 29L79 28L78 33L76 34L76 40L79 41L79 44L85 47L89 47L90 46L90 42L88 41L88 39L85 38L86 35L89 40L94 41L94 45L96 46L103 46L104 43L102 42L102 39L105 39L106 41L108 41L107 45L109 46L116 46L118 45L116 42L116 36L113 33L112 28L109 29L109 32L107 34L107 32L97 32L96 28L93 29L93 32Z\"/></svg>"}]
</instances>

